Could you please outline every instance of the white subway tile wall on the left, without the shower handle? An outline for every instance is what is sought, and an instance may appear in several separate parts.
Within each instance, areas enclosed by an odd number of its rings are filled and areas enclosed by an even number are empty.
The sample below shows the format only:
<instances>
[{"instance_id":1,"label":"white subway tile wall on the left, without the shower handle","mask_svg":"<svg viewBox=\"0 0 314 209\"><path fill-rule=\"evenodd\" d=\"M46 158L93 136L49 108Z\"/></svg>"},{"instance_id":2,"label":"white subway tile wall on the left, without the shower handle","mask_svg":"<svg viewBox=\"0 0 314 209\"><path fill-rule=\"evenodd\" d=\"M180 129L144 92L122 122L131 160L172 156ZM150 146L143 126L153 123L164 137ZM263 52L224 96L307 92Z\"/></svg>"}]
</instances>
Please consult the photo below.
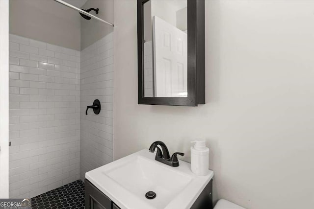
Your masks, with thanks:
<instances>
[{"instance_id":1,"label":"white subway tile wall on the left, without the shower handle","mask_svg":"<svg viewBox=\"0 0 314 209\"><path fill-rule=\"evenodd\" d=\"M30 198L79 179L80 51L9 41L10 198Z\"/></svg>"}]
</instances>

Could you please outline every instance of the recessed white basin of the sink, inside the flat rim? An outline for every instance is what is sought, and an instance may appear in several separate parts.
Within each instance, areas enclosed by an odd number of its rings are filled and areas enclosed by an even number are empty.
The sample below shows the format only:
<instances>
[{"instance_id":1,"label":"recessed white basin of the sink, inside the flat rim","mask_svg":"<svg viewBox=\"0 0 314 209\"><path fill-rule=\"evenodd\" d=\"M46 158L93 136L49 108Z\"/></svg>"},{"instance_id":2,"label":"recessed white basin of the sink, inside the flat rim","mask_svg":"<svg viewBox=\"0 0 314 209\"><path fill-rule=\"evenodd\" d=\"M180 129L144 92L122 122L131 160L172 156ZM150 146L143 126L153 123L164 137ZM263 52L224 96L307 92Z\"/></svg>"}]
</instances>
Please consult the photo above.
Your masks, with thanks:
<instances>
[{"instance_id":1,"label":"recessed white basin of the sink, inside the flat rim","mask_svg":"<svg viewBox=\"0 0 314 209\"><path fill-rule=\"evenodd\" d=\"M159 166L142 156L108 171L106 175L158 209L165 208L192 180L183 173ZM146 192L150 190L157 194L154 200L145 198Z\"/></svg>"}]
</instances>

